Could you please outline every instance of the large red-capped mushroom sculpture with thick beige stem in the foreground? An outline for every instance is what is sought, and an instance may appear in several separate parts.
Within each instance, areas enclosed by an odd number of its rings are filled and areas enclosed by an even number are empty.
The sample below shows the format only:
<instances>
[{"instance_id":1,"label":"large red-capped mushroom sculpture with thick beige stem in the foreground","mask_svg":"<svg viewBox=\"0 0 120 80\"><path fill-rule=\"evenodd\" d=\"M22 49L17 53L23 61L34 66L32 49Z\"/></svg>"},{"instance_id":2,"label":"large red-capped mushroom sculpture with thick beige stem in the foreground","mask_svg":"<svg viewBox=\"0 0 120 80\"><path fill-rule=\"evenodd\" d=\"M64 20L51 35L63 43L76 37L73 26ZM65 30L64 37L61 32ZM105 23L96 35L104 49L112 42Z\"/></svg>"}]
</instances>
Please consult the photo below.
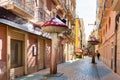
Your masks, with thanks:
<instances>
[{"instance_id":1,"label":"large red-capped mushroom sculpture with thick beige stem in the foreground","mask_svg":"<svg viewBox=\"0 0 120 80\"><path fill-rule=\"evenodd\" d=\"M57 73L57 48L58 48L58 33L68 29L64 20L60 20L57 17L46 21L42 27L43 31L51 33L52 37L52 53L51 53L51 62L50 62L50 74Z\"/></svg>"}]
</instances>

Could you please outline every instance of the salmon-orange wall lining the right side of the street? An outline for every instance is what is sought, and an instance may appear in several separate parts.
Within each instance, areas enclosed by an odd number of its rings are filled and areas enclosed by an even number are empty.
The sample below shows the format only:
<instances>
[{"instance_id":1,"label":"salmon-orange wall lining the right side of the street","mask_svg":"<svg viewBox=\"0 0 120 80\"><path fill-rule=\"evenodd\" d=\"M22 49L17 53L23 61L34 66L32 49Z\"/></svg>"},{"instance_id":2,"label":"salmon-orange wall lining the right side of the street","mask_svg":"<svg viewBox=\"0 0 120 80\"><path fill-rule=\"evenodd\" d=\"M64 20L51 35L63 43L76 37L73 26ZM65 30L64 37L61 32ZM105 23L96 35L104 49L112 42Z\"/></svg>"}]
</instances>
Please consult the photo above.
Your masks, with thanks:
<instances>
[{"instance_id":1,"label":"salmon-orange wall lining the right side of the street","mask_svg":"<svg viewBox=\"0 0 120 80\"><path fill-rule=\"evenodd\" d=\"M115 16L116 13L111 11L109 17L107 18L106 25L102 26L102 45L101 45L101 57L104 58L104 62L111 67L111 60L114 53L112 53L112 48L115 46ZM111 21L109 20L111 19Z\"/></svg>"}]
</instances>

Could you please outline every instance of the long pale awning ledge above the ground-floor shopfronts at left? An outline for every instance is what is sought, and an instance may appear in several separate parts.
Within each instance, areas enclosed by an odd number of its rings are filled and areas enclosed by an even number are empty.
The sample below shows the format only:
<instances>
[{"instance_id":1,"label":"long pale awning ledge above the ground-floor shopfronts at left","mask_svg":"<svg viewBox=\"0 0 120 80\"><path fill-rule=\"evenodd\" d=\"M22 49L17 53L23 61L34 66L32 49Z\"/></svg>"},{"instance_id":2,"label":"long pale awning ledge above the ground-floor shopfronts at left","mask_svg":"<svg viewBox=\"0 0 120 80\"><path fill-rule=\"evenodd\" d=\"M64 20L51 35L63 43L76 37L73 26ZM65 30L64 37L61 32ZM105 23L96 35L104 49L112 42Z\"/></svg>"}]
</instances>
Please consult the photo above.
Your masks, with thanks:
<instances>
[{"instance_id":1,"label":"long pale awning ledge above the ground-floor shopfronts at left","mask_svg":"<svg viewBox=\"0 0 120 80\"><path fill-rule=\"evenodd\" d=\"M26 31L26 32L29 32L29 33L32 33L32 34L35 34L35 35L39 35L39 36L42 36L42 37L45 37L45 38L48 38L48 39L51 39L51 36L49 33L46 33L46 32L43 32L41 29L39 28L33 28L32 27L32 24L31 23L28 23L29 26L26 26L26 24L17 24L17 23L14 23L12 21L9 21L9 20L6 20L6 19L1 19L0 18L0 23L2 24L6 24L10 27L14 27L14 28L17 28L17 29L20 29L20 30L23 30L23 31Z\"/></svg>"}]
</instances>

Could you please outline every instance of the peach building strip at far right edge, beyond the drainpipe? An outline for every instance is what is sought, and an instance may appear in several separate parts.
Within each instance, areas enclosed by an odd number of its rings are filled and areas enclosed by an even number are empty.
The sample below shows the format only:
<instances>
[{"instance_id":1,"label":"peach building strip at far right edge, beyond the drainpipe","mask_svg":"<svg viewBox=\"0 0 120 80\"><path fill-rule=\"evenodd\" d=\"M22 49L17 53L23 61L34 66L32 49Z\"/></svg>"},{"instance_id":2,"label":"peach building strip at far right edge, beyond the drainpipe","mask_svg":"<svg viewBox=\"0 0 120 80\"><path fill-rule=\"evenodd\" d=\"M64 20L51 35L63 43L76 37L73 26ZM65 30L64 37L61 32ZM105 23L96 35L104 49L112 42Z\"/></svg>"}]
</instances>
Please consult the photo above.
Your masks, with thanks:
<instances>
[{"instance_id":1,"label":"peach building strip at far right edge, beyond the drainpipe","mask_svg":"<svg viewBox=\"0 0 120 80\"><path fill-rule=\"evenodd\" d=\"M119 63L119 61L120 61L120 28L119 28L119 24L120 24L120 14L119 14L119 12L120 12L120 6L119 6L119 4L120 4L120 1L119 0L113 0L112 1L112 7L111 7L111 10L113 10L113 11L115 11L116 12L116 16L115 16L115 33L116 33L116 50L115 50L115 72L117 72L119 75L120 75L120 69L119 69L119 67L120 67L120 63Z\"/></svg>"}]
</instances>

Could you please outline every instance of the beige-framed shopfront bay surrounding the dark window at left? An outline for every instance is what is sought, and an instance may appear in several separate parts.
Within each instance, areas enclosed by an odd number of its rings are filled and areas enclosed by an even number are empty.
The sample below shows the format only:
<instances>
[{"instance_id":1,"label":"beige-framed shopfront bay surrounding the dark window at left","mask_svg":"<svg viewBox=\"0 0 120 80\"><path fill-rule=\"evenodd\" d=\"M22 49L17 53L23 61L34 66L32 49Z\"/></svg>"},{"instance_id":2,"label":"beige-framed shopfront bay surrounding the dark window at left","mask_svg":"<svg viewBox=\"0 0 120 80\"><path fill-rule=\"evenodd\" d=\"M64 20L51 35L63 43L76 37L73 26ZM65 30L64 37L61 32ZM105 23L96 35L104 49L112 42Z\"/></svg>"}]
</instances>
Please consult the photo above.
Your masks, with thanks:
<instances>
[{"instance_id":1,"label":"beige-framed shopfront bay surrounding the dark window at left","mask_svg":"<svg viewBox=\"0 0 120 80\"><path fill-rule=\"evenodd\" d=\"M7 27L7 56L10 78L25 74L25 32Z\"/></svg>"}]
</instances>

